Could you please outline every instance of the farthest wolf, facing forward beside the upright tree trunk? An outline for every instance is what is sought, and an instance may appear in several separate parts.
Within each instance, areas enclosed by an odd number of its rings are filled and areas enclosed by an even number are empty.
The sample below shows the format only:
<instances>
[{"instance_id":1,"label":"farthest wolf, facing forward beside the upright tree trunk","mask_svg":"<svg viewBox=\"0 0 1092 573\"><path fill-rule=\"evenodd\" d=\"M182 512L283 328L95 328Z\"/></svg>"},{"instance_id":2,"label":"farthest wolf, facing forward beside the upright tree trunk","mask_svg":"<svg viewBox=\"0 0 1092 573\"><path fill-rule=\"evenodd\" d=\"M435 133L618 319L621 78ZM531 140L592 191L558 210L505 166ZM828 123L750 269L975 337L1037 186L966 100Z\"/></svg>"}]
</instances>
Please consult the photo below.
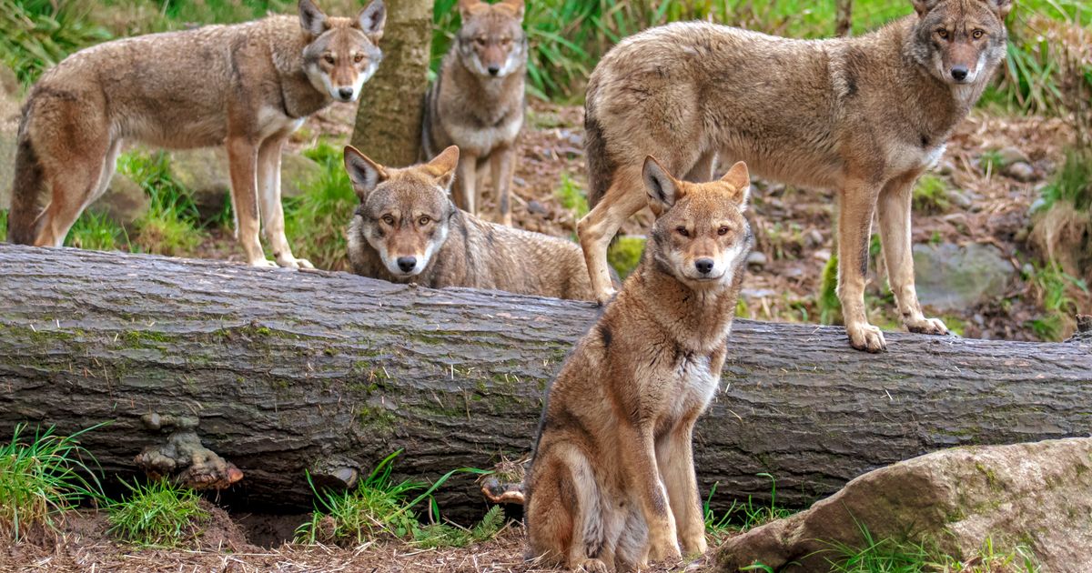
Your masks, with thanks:
<instances>
[{"instance_id":1,"label":"farthest wolf, facing forward beside the upright tree trunk","mask_svg":"<svg viewBox=\"0 0 1092 573\"><path fill-rule=\"evenodd\" d=\"M429 157L449 145L461 152L455 204L479 215L482 181L490 170L500 222L512 225L515 140L523 127L527 39L523 0L487 4L460 0L463 25L425 97L423 150Z\"/></svg>"}]
</instances>

